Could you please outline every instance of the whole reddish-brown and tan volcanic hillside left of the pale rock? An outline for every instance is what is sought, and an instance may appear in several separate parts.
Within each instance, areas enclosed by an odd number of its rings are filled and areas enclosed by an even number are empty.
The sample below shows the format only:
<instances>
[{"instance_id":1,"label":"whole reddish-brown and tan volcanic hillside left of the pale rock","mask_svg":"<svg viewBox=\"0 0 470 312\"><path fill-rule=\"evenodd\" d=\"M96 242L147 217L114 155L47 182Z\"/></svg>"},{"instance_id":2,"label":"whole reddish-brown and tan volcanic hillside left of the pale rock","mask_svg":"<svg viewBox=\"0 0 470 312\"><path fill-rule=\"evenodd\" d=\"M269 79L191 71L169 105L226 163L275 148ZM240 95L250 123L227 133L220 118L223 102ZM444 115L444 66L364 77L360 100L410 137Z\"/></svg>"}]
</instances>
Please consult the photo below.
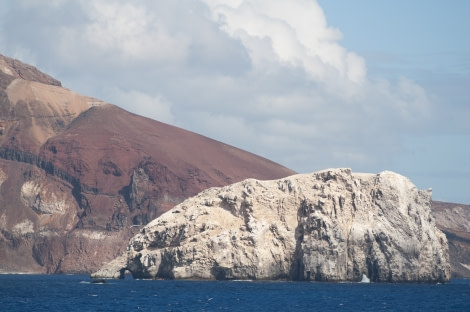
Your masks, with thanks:
<instances>
[{"instance_id":1,"label":"whole reddish-brown and tan volcanic hillside left of the pale rock","mask_svg":"<svg viewBox=\"0 0 470 312\"><path fill-rule=\"evenodd\" d=\"M293 173L0 55L0 271L94 271L187 197Z\"/></svg>"}]
</instances>

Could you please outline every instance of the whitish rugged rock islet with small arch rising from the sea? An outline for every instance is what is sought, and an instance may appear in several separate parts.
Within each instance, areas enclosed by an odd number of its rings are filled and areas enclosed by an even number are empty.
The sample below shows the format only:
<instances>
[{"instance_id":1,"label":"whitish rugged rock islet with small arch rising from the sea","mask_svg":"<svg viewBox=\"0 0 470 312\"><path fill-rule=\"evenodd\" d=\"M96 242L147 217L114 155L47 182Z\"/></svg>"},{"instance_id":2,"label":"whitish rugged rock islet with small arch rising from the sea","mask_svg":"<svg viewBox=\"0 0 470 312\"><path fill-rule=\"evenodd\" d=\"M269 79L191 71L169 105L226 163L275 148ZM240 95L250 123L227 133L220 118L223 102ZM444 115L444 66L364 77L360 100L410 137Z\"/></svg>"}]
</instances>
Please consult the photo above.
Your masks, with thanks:
<instances>
[{"instance_id":1,"label":"whitish rugged rock islet with small arch rising from the sea","mask_svg":"<svg viewBox=\"0 0 470 312\"><path fill-rule=\"evenodd\" d=\"M95 278L446 282L431 192L392 172L248 179L185 200Z\"/></svg>"}]
</instances>

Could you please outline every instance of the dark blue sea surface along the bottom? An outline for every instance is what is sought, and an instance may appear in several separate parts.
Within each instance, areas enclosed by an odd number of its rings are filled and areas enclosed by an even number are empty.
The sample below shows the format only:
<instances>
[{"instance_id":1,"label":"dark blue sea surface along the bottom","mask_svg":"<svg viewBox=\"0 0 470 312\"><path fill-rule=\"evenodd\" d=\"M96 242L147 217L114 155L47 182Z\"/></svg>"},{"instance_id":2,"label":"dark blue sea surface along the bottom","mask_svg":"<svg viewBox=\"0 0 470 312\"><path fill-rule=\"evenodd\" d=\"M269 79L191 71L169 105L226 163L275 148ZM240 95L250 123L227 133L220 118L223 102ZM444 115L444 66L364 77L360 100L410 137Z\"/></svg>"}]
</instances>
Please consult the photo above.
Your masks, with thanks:
<instances>
[{"instance_id":1,"label":"dark blue sea surface along the bottom","mask_svg":"<svg viewBox=\"0 0 470 312\"><path fill-rule=\"evenodd\" d=\"M108 280L0 275L0 311L470 311L447 284Z\"/></svg>"}]
</instances>

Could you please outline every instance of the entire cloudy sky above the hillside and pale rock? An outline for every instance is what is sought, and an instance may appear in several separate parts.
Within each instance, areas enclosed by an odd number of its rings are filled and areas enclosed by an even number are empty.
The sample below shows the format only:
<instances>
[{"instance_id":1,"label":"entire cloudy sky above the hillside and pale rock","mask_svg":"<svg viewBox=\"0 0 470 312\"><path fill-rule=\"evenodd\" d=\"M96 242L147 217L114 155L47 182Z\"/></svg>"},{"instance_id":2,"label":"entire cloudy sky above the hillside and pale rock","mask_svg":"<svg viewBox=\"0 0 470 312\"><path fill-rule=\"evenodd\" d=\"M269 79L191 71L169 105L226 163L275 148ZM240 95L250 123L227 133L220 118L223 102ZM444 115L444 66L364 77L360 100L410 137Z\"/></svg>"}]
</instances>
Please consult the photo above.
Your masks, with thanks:
<instances>
[{"instance_id":1,"label":"entire cloudy sky above the hillside and pale rock","mask_svg":"<svg viewBox=\"0 0 470 312\"><path fill-rule=\"evenodd\" d=\"M470 204L470 2L18 0L0 53L298 172Z\"/></svg>"}]
</instances>

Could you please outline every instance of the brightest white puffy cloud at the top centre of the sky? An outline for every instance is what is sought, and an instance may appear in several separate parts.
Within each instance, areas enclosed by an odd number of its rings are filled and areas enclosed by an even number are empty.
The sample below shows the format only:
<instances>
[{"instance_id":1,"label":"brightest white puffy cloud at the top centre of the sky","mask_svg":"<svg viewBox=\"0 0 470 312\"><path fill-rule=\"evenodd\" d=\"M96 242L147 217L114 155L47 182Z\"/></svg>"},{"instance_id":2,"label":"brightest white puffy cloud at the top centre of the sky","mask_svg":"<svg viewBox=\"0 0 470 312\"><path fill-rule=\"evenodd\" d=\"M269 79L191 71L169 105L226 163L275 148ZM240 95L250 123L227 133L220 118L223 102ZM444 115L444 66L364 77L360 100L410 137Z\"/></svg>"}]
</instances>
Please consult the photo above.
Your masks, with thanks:
<instances>
[{"instance_id":1,"label":"brightest white puffy cloud at the top centre of the sky","mask_svg":"<svg viewBox=\"0 0 470 312\"><path fill-rule=\"evenodd\" d=\"M324 81L329 75L353 82L365 78L364 61L337 44L342 34L327 26L323 11L315 1L206 3L214 18L223 23L222 29L242 40L255 60L262 59L266 52L264 40L268 40L280 62L304 67L317 81Z\"/></svg>"}]
</instances>

